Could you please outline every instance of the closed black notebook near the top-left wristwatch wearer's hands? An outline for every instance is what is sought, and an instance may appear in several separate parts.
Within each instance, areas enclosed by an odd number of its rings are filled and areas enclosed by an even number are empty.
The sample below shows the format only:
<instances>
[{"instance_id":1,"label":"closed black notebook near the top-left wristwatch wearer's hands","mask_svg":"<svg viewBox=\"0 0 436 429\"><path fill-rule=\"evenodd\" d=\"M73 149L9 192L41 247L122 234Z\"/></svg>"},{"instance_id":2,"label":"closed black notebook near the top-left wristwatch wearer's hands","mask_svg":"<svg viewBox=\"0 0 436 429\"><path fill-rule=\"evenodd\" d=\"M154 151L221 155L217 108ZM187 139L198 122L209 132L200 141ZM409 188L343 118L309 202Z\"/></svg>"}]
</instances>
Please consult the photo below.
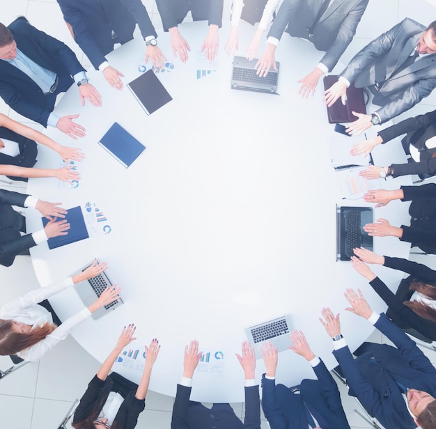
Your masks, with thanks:
<instances>
[{"instance_id":1,"label":"closed black notebook near the top-left wristwatch wearer's hands","mask_svg":"<svg viewBox=\"0 0 436 429\"><path fill-rule=\"evenodd\" d=\"M153 70L143 73L127 86L148 115L173 100Z\"/></svg>"}]
</instances>

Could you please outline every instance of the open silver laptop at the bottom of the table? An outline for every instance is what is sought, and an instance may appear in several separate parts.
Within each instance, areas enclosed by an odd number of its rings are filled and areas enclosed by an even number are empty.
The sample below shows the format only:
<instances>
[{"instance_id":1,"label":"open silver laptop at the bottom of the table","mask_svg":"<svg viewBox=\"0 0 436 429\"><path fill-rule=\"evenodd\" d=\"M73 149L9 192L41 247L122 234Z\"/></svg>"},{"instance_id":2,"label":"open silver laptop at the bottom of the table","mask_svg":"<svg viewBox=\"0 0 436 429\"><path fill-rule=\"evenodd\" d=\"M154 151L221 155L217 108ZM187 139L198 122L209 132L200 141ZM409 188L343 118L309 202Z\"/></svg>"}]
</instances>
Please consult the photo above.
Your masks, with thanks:
<instances>
[{"instance_id":1,"label":"open silver laptop at the bottom of the table","mask_svg":"<svg viewBox=\"0 0 436 429\"><path fill-rule=\"evenodd\" d=\"M260 359L260 347L265 341L270 341L274 344L274 348L279 349L279 352L287 350L293 342L290 340L290 331L293 330L291 315L283 315L279 318L267 320L267 322L259 323L245 328L245 334L248 341L253 345L256 352L256 359Z\"/></svg>"}]
</instances>

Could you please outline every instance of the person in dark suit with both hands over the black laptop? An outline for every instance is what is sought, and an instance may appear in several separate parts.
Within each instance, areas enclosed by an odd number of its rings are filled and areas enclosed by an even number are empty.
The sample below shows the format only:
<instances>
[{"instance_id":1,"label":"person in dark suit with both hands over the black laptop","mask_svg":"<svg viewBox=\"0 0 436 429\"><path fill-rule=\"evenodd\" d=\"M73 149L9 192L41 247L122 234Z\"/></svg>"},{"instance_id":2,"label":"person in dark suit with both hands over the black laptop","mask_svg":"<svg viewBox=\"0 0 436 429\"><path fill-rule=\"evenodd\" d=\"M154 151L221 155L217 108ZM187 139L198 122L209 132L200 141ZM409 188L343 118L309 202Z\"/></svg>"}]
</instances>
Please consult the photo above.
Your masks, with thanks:
<instances>
[{"instance_id":1,"label":"person in dark suit with both hands over the black laptop","mask_svg":"<svg viewBox=\"0 0 436 429\"><path fill-rule=\"evenodd\" d=\"M410 226L391 226L386 219L366 224L364 231L373 237L397 237L400 241L412 243L426 253L436 252L436 185L402 186L400 189L385 191L377 189L364 194L364 201L377 203L375 207L387 205L389 201L412 201L409 207Z\"/></svg>"}]
</instances>

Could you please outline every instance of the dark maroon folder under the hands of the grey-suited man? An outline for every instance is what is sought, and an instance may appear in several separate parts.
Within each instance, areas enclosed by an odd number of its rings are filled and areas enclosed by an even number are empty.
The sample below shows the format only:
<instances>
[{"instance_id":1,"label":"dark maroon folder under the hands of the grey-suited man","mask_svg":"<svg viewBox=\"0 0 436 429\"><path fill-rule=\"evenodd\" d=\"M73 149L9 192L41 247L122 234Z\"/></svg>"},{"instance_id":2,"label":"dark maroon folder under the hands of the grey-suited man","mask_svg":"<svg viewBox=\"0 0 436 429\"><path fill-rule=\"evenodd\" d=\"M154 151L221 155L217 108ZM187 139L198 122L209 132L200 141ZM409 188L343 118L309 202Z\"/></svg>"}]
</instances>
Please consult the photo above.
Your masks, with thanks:
<instances>
[{"instance_id":1,"label":"dark maroon folder under the hands of the grey-suited man","mask_svg":"<svg viewBox=\"0 0 436 429\"><path fill-rule=\"evenodd\" d=\"M329 89L330 86L336 84L337 81L337 75L325 76L324 89ZM342 104L341 98L339 98L332 107L327 107L329 123L348 123L357 120L357 116L354 116L352 111L357 111L359 114L366 114L364 90L363 88L356 88L354 84L351 84L347 88L347 101L345 102L345 106Z\"/></svg>"}]
</instances>

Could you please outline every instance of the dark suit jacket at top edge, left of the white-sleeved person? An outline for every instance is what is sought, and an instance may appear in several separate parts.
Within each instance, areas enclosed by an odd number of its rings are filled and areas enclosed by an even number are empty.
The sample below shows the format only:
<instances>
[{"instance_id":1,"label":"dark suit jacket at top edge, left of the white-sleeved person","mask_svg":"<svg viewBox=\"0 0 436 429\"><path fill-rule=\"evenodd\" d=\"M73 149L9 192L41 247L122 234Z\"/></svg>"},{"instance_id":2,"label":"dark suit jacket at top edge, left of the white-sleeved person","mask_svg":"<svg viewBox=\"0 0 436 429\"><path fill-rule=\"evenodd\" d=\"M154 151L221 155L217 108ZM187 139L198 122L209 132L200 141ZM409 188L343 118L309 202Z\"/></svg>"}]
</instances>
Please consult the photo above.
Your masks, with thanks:
<instances>
[{"instance_id":1,"label":"dark suit jacket at top edge, left of the white-sleeved person","mask_svg":"<svg viewBox=\"0 0 436 429\"><path fill-rule=\"evenodd\" d=\"M180 24L189 10L194 21L208 20L209 25L222 25L224 0L156 0L156 6L164 31Z\"/></svg>"}]
</instances>

